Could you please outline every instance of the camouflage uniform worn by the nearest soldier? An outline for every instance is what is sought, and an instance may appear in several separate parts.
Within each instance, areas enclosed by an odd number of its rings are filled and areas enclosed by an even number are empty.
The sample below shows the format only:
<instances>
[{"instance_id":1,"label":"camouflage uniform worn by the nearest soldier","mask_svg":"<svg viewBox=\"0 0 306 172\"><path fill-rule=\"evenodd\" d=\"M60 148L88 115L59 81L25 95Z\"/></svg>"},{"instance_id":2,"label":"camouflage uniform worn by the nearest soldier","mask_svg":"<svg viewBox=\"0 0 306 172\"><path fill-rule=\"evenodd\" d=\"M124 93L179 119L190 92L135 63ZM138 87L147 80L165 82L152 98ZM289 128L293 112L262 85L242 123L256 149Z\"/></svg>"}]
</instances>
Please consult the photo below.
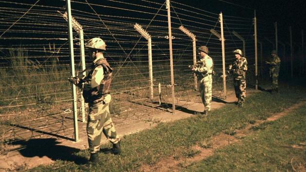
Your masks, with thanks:
<instances>
[{"instance_id":1,"label":"camouflage uniform worn by the nearest soldier","mask_svg":"<svg viewBox=\"0 0 306 172\"><path fill-rule=\"evenodd\" d=\"M111 101L111 95L109 94L109 85L107 80L111 80L112 69L107 63L106 59L101 57L95 59L92 65L92 69L85 78L88 80L84 83L83 95L85 102L89 105L89 114L87 119L87 136L89 144L89 152L96 153L100 150L102 132L106 138L113 144L119 142L117 132L109 112L109 103ZM107 79L105 79L107 77ZM103 86L101 86L103 84ZM99 95L99 89L101 90L108 87L102 95ZM93 93L96 93L94 95Z\"/></svg>"}]
</instances>

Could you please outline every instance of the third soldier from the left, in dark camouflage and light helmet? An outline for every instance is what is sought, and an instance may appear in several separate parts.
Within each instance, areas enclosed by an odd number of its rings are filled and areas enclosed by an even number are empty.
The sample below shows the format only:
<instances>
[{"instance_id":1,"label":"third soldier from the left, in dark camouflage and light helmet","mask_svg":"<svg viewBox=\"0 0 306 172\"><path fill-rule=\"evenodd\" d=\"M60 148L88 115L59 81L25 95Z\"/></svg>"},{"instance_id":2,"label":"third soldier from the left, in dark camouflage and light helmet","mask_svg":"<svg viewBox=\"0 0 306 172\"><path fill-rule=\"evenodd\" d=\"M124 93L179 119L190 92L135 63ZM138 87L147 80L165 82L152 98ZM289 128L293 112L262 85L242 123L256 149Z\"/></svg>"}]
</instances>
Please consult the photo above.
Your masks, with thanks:
<instances>
[{"instance_id":1,"label":"third soldier from the left, in dark camouflage and light helmet","mask_svg":"<svg viewBox=\"0 0 306 172\"><path fill-rule=\"evenodd\" d=\"M234 51L236 60L229 65L229 71L233 74L234 77L234 87L235 87L235 94L238 98L237 105L239 107L243 106L245 101L245 89L246 89L246 82L245 82L245 73L248 70L248 62L245 57L242 57L242 51L237 49Z\"/></svg>"}]
</instances>

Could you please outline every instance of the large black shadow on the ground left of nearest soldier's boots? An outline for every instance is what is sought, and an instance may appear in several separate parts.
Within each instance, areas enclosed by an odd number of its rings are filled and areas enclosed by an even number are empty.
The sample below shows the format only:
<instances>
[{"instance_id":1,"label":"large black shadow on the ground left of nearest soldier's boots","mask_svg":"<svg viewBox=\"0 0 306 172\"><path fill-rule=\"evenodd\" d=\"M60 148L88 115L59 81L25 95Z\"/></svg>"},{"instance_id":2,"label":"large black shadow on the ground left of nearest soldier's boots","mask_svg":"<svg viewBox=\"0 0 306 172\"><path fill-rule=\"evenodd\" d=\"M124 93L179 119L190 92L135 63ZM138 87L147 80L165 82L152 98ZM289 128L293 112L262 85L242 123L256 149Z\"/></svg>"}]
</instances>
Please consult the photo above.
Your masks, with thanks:
<instances>
[{"instance_id":1,"label":"large black shadow on the ground left of nearest soldier's boots","mask_svg":"<svg viewBox=\"0 0 306 172\"><path fill-rule=\"evenodd\" d=\"M73 161L76 164L85 164L85 157L75 155L80 150L68 146L58 145L56 138L35 138L29 140L18 140L14 145L24 147L19 153L24 157L47 156L52 160Z\"/></svg>"}]
</instances>

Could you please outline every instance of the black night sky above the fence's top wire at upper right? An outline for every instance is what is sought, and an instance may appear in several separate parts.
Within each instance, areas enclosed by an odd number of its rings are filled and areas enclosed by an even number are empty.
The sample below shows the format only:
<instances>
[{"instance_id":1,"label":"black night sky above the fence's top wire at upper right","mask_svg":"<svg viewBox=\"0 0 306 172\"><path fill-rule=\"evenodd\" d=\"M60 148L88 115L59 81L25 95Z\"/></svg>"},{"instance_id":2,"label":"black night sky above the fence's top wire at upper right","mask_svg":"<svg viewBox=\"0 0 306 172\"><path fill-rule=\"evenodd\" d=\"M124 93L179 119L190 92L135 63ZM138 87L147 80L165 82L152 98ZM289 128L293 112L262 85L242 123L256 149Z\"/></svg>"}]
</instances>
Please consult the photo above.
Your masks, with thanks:
<instances>
[{"instance_id":1,"label":"black night sky above the fence's top wire at upper right","mask_svg":"<svg viewBox=\"0 0 306 172\"><path fill-rule=\"evenodd\" d=\"M293 33L306 30L306 0L175 0L213 13L237 17L256 17L267 23L278 23L278 29ZM288 31L289 32L289 31ZM280 34L286 34L280 32ZM281 36L281 35L280 35Z\"/></svg>"}]
</instances>

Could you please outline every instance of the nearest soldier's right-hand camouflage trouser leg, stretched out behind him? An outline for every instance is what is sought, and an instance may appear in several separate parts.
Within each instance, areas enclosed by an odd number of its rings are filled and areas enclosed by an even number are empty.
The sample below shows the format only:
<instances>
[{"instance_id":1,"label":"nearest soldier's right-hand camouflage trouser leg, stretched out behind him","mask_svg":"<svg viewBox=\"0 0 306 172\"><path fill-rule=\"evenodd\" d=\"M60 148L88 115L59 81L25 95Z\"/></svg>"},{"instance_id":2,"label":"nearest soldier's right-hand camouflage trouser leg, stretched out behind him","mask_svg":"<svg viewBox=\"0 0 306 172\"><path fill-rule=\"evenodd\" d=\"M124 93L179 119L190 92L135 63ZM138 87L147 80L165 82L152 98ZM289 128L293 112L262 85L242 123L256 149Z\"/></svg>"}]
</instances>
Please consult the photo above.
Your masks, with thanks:
<instances>
[{"instance_id":1,"label":"nearest soldier's right-hand camouflage trouser leg, stretched out behind him","mask_svg":"<svg viewBox=\"0 0 306 172\"><path fill-rule=\"evenodd\" d=\"M103 105L103 115L104 115L104 124L103 124L103 133L106 138L109 139L113 144L119 142L119 137L115 129L115 125L111 119L109 112L109 103Z\"/></svg>"}]
</instances>

